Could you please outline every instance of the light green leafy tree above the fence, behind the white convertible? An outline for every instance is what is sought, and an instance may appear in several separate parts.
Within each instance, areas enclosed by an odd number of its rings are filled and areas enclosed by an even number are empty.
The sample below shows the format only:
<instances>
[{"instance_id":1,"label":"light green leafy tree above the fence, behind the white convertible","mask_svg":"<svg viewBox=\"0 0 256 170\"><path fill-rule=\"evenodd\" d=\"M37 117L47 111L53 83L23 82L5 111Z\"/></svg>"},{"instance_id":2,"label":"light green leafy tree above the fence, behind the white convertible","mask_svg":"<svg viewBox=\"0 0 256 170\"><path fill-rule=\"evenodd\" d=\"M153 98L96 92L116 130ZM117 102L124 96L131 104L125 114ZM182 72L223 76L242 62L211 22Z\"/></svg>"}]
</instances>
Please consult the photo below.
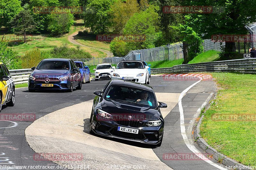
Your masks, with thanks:
<instances>
[{"instance_id":1,"label":"light green leafy tree above the fence, behind the white convertible","mask_svg":"<svg viewBox=\"0 0 256 170\"><path fill-rule=\"evenodd\" d=\"M130 47L136 49L153 48L162 45L160 40L162 32L159 30L159 15L156 12L158 6L150 5L145 11L135 13L126 23L124 34L145 36L144 41L127 42ZM132 50L132 49L131 49Z\"/></svg>"}]
</instances>

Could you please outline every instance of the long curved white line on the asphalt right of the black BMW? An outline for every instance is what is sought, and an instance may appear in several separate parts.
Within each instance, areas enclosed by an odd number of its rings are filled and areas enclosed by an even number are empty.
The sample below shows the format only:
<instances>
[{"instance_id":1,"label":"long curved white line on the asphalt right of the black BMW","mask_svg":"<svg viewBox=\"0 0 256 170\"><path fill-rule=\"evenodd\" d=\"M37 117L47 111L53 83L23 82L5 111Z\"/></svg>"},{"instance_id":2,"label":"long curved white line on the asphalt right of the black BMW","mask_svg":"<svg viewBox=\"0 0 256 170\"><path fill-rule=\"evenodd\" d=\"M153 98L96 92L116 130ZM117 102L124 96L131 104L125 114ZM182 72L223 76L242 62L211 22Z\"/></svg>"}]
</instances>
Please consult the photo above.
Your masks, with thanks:
<instances>
[{"instance_id":1,"label":"long curved white line on the asphalt right of the black BMW","mask_svg":"<svg viewBox=\"0 0 256 170\"><path fill-rule=\"evenodd\" d=\"M192 76L194 77L194 76ZM200 78L199 81L197 81L196 83L194 83L193 85L190 85L188 88L186 88L183 92L180 93L179 96L179 110L180 110L180 131L181 131L181 135L183 137L183 140L185 142L185 144L187 145L188 149L190 151L192 151L193 153L195 153L196 155L198 153L201 153L198 149L196 149L196 147L194 146L194 144L191 144L188 140L187 134L186 134L186 128L185 128L185 123L184 123L184 114L183 114L183 108L182 108L182 104L181 104L181 100L183 98L183 96L185 95L186 92L188 92L189 89L191 89L194 85L196 85L197 83L201 82L203 79ZM215 166L218 169L221 170L226 170L225 168L213 163L211 160L209 160L208 158L206 158L203 154L202 154L203 160L207 163L209 163L212 166Z\"/></svg>"}]
</instances>

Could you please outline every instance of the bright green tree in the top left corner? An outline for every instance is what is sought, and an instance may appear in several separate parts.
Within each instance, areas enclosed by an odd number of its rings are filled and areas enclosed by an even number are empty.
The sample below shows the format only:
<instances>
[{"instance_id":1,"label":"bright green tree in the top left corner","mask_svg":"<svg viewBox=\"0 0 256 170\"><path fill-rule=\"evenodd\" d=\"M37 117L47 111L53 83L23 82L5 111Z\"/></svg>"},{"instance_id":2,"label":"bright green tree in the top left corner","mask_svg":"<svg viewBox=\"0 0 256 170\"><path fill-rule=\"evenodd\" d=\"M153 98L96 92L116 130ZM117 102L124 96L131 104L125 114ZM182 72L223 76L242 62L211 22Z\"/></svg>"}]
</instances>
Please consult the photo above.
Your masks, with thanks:
<instances>
[{"instance_id":1,"label":"bright green tree in the top left corner","mask_svg":"<svg viewBox=\"0 0 256 170\"><path fill-rule=\"evenodd\" d=\"M20 0L0 0L0 28L2 26L8 26L8 22L20 12L21 8Z\"/></svg>"}]
</instances>

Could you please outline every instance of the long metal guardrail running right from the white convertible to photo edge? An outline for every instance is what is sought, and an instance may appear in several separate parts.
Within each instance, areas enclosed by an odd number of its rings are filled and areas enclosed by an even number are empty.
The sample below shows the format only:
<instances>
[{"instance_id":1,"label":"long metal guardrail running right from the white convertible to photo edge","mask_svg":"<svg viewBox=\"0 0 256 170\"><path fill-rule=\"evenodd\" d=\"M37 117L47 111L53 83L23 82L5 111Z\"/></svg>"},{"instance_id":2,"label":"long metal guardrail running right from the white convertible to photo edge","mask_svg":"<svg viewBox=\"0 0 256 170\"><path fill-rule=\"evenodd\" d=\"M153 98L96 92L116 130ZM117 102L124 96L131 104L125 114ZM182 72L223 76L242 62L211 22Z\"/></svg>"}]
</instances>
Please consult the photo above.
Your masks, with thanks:
<instances>
[{"instance_id":1,"label":"long metal guardrail running right from the white convertible to photo edge","mask_svg":"<svg viewBox=\"0 0 256 170\"><path fill-rule=\"evenodd\" d=\"M196 64L181 64L173 67L151 69L151 74L189 72L230 72L256 73L256 58L226 60Z\"/></svg>"}]
</instances>

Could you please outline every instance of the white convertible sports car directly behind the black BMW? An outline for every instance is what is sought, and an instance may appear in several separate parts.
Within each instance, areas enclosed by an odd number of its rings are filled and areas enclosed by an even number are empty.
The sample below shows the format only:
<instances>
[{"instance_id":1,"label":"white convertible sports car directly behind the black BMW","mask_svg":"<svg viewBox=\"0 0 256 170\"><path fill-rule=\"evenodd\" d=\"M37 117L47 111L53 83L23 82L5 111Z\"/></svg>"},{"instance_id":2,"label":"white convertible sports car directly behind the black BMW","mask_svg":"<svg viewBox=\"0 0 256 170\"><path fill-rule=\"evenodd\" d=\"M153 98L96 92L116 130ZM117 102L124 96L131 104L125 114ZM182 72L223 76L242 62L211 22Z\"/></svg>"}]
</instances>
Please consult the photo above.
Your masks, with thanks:
<instances>
[{"instance_id":1,"label":"white convertible sports car directly behind the black BMW","mask_svg":"<svg viewBox=\"0 0 256 170\"><path fill-rule=\"evenodd\" d=\"M111 79L131 80L149 84L148 68L141 61L121 61L112 72Z\"/></svg>"}]
</instances>

